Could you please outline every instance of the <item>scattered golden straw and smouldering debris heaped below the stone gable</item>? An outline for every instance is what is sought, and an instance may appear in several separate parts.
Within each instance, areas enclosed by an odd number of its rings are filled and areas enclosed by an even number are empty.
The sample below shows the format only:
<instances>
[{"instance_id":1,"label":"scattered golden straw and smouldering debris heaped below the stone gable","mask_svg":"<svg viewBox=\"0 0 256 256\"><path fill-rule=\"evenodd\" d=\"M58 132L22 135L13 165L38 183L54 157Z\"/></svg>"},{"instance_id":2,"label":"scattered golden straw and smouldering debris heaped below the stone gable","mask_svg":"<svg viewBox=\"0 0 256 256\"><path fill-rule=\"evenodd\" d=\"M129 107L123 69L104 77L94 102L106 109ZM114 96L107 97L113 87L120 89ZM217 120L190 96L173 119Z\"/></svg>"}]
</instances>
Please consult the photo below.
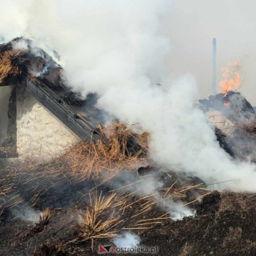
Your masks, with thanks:
<instances>
[{"instance_id":1,"label":"scattered golden straw and smouldering debris heaped below the stone gable","mask_svg":"<svg viewBox=\"0 0 256 256\"><path fill-rule=\"evenodd\" d=\"M102 168L101 175L86 174L86 179L84 179L82 170L74 172L71 168L72 165L68 164L72 160L70 156L67 158L69 152L51 163L36 165L27 162L13 167L8 166L5 171L13 171L16 174L16 176L9 176L9 182L12 181L16 184L15 187L10 188L11 193L19 195L17 200L22 200L18 202L14 199L8 201L8 197L5 197L2 208L8 210L9 205L14 205L16 208L18 205L26 204L31 211L40 209L43 212L40 220L37 216L36 226L28 229L20 237L26 240L38 233L46 236L48 230L51 229L51 225L56 222L58 214L63 214L72 205L73 207L79 205L79 210L73 210L72 214L79 216L80 213L81 220L77 222L76 219L75 223L74 221L72 224L69 223L67 228L74 230L75 233L72 234L72 242L67 243L65 247L69 245L79 247L86 241L90 241L90 245L94 248L96 241L122 236L122 232L150 230L159 228L163 221L178 220L175 215L177 212L181 214L180 219L188 217L189 214L183 214L184 210L188 210L185 204L189 205L191 202L191 205L193 205L204 196L212 193L208 190L205 193L204 185L197 183L199 180L194 180L194 183L189 179L185 182L184 178L177 181L175 173L170 170L160 170L157 166L145 168L144 175L148 177L138 176L139 172L136 166L142 164L143 158L139 159L138 154L134 154L134 146L131 147L131 144L127 143L131 134L137 142L140 141L141 145L143 143L147 144L147 139L145 140L139 134L131 133L130 130L126 129L120 131L110 127L106 134L108 138L112 138L113 144L111 145L113 146L109 147L110 144L106 144L108 151L104 151L105 154L111 154L114 163L115 157L120 157L119 154L114 154L114 152L120 154L122 152L123 157L126 156L127 158L125 162L130 161L134 166L133 170L127 168L125 170L125 168L119 168L118 165L112 164L112 170L109 170L113 172L114 175L112 176L109 176L108 172ZM102 143L104 143L104 140ZM70 151L72 150L71 148ZM138 152L140 150L139 148ZM144 154L146 154L146 148L144 150ZM98 151L93 152L96 154ZM85 151L84 154L86 155L87 152ZM142 157L144 154L142 154ZM74 154L73 158L75 159L75 157ZM146 160L148 159L144 158L143 160L145 166ZM77 161L84 165L90 164L90 161L86 161L86 158L77 159ZM100 168L98 170L100 171ZM185 184L187 186L184 187ZM112 192L113 190L115 191ZM192 193L193 196L187 197L184 193L185 191L192 192L195 190L199 193ZM177 200L175 197L179 199L179 209L176 208ZM171 204L172 209L170 208ZM47 207L60 209L57 212L52 211L50 221L50 213ZM67 221L65 218L62 217L61 220ZM11 222L10 218L5 219L5 225ZM39 250L39 247L36 250Z\"/></svg>"}]
</instances>

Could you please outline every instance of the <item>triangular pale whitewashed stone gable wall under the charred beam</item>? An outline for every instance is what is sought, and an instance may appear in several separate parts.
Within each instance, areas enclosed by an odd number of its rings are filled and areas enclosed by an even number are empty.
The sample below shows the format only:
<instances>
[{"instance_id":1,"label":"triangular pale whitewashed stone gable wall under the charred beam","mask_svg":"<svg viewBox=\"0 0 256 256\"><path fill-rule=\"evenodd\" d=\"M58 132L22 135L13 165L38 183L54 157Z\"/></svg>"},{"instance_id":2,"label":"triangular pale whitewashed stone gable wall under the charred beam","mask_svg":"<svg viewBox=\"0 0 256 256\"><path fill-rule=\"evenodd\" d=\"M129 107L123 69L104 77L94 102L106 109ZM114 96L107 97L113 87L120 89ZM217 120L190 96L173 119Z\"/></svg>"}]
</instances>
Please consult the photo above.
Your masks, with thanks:
<instances>
[{"instance_id":1,"label":"triangular pale whitewashed stone gable wall under the charred beam","mask_svg":"<svg viewBox=\"0 0 256 256\"><path fill-rule=\"evenodd\" d=\"M48 161L79 138L22 86L16 94L17 151L20 159Z\"/></svg>"}]
</instances>

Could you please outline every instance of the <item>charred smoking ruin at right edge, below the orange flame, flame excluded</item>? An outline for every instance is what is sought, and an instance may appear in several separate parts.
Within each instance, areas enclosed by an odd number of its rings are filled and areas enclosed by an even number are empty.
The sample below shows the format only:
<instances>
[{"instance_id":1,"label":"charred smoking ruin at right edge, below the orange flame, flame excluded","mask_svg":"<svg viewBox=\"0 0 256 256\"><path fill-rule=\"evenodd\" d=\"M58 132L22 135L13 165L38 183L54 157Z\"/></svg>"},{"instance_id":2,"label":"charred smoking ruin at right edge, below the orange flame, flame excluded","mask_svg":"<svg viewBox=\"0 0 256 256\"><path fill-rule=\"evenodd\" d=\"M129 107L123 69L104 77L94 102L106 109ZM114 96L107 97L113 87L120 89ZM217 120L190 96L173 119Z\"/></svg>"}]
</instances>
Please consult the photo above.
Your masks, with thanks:
<instances>
[{"instance_id":1,"label":"charred smoking ruin at right edge, below the orange flame, flame excluded","mask_svg":"<svg viewBox=\"0 0 256 256\"><path fill-rule=\"evenodd\" d=\"M217 110L222 117L222 126L215 127L220 146L233 158L256 161L255 109L239 92L229 91L199 100L204 112Z\"/></svg>"}]
</instances>

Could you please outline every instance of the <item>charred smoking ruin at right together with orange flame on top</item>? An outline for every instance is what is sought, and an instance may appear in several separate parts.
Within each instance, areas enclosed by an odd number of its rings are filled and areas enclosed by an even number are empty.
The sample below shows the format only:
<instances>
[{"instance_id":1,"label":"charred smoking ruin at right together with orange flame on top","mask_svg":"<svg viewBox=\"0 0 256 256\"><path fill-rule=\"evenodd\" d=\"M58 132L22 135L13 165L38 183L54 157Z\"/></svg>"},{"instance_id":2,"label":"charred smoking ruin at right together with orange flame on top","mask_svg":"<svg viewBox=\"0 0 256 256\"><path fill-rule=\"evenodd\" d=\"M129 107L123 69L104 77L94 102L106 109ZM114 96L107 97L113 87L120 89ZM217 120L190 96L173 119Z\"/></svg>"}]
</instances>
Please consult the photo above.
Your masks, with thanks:
<instances>
[{"instance_id":1,"label":"charred smoking ruin at right together with orange flame on top","mask_svg":"<svg viewBox=\"0 0 256 256\"><path fill-rule=\"evenodd\" d=\"M212 115L210 119L216 125L215 134L220 146L233 158L255 162L255 110L241 93L236 92L241 86L240 68L237 62L223 68L221 93L210 95L208 99L199 102L200 108ZM212 110L217 112L217 121L214 120Z\"/></svg>"}]
</instances>

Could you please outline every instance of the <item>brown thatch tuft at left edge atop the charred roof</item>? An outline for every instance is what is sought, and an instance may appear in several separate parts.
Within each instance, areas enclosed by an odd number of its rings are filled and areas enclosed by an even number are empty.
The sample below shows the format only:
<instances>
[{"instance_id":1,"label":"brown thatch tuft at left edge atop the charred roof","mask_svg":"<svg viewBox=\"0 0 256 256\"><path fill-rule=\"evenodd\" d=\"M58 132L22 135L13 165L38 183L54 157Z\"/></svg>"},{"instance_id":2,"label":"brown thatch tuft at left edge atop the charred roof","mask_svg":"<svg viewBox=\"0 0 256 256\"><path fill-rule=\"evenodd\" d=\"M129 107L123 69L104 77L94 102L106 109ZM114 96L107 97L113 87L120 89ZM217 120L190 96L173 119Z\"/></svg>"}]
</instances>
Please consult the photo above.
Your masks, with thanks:
<instances>
[{"instance_id":1,"label":"brown thatch tuft at left edge atop the charred roof","mask_svg":"<svg viewBox=\"0 0 256 256\"><path fill-rule=\"evenodd\" d=\"M20 58L22 51L6 51L0 56L0 84L7 77L20 75L20 68L15 65L15 60Z\"/></svg>"}]
</instances>

